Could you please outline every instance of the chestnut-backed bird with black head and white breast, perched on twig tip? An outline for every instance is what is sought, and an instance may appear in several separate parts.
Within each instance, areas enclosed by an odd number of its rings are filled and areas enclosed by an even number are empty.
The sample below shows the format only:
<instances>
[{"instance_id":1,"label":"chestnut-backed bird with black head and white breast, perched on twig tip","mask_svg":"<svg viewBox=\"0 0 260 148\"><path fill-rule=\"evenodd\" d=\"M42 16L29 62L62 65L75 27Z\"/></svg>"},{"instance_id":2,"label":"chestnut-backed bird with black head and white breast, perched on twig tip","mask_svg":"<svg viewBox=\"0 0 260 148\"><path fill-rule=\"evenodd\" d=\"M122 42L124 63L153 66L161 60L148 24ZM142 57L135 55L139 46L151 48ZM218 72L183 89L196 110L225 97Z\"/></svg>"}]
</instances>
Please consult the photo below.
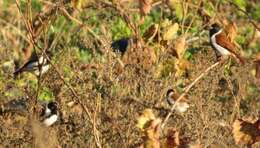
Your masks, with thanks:
<instances>
[{"instance_id":1,"label":"chestnut-backed bird with black head and white breast, perched on twig tip","mask_svg":"<svg viewBox=\"0 0 260 148\"><path fill-rule=\"evenodd\" d=\"M209 30L210 36L210 44L213 49L215 49L215 53L217 58L221 56L233 56L238 59L241 64L245 64L244 58L242 58L235 50L236 45L233 44L223 32L223 29L220 28L218 24L211 25L211 29Z\"/></svg>"}]
</instances>

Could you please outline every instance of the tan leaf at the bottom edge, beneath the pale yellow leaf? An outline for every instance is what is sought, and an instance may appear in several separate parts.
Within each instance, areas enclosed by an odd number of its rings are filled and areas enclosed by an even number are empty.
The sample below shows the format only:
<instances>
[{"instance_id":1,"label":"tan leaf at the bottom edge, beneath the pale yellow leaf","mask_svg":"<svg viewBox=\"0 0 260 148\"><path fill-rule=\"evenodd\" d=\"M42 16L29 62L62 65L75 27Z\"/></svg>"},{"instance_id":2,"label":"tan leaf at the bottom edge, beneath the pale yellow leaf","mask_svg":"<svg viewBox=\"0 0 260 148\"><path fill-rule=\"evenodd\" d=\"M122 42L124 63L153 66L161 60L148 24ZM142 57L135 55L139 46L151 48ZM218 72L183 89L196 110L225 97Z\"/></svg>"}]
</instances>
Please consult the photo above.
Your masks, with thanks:
<instances>
[{"instance_id":1,"label":"tan leaf at the bottom edge, beneath the pale yellow leaf","mask_svg":"<svg viewBox=\"0 0 260 148\"><path fill-rule=\"evenodd\" d=\"M160 148L161 119L155 119L145 130L144 148Z\"/></svg>"}]
</instances>

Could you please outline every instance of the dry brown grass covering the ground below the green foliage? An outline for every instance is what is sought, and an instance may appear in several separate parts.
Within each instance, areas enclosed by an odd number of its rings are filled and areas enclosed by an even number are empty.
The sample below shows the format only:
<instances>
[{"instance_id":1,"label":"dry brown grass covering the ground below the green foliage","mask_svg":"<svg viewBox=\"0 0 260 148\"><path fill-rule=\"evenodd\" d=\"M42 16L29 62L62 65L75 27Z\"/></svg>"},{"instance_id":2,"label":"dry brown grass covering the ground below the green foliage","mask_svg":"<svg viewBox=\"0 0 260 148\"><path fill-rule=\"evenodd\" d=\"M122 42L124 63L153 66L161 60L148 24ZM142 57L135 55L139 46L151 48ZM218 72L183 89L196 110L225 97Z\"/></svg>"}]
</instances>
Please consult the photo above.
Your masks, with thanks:
<instances>
[{"instance_id":1,"label":"dry brown grass covering the ground below the green foliage","mask_svg":"<svg viewBox=\"0 0 260 148\"><path fill-rule=\"evenodd\" d=\"M34 98L37 93L33 84L36 81L34 76L24 74L20 80L14 80L11 75L13 60L22 55L20 49L24 42L21 38L26 36L27 31L15 4L8 9L12 11L0 11L1 104L25 95ZM100 10L101 14L105 11L103 9ZM100 23L109 32L106 21L101 20ZM73 27L68 32L76 32L78 26ZM0 143L3 147L98 147L97 143L102 147L136 147L142 143L143 136L136 127L139 114L144 109L151 108L158 117L165 118L170 111L164 98L166 91L169 88L179 88L180 84L187 86L216 61L210 46L205 46L208 38L205 35L195 45L189 45L199 47L199 50L192 57L187 77L175 77L172 73L157 78L155 75L158 73L158 65L172 58L167 52L170 49L162 51L157 62L148 64L148 68L142 67L142 56L146 54L141 55L139 61L137 58L133 64L130 61L132 55L128 52L125 56L130 56L126 58L130 64L126 64L122 70L118 68L119 56L115 58L111 51L99 54L98 50L110 50L104 45L111 42L110 37L106 34L99 35L99 39L105 41L100 45L98 39L87 32L82 29L82 32L61 35L53 50L57 53L52 60L56 69L52 68L42 78L41 86L49 88L59 102L62 120L45 128L28 115L1 114ZM66 38L66 35L70 35L70 38ZM83 63L78 56L80 46L94 51L87 63ZM134 55L138 57L139 53ZM248 86L255 85L259 89L259 80L251 74L253 64L250 62L240 66L233 61L230 66L231 75L224 74L226 65L228 64L211 70L188 92L191 108L185 114L173 113L164 132L176 127L182 137L191 142L199 142L203 147L243 147L235 145L231 125L237 118L260 116L259 97L246 99L252 96L247 91ZM60 78L56 70L61 72L64 79ZM225 81L223 85L220 85L221 80ZM75 94L64 81L75 90L89 115L86 115L80 104L68 106L69 102L75 101ZM257 146L259 144L255 147Z\"/></svg>"}]
</instances>

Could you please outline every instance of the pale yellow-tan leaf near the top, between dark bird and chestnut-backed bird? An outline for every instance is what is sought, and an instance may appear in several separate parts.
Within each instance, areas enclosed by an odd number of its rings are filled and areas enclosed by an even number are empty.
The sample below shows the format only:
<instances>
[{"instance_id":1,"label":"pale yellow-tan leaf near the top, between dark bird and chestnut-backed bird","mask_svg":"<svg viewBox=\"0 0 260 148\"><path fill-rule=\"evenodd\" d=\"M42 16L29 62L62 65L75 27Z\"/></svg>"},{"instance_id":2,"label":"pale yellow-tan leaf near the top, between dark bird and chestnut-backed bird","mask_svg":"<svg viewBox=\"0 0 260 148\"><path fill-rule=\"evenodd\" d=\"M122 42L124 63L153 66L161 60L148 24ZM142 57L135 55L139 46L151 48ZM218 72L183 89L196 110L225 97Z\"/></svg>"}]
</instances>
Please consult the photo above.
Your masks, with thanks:
<instances>
[{"instance_id":1,"label":"pale yellow-tan leaf near the top, between dark bird and chestnut-backed bird","mask_svg":"<svg viewBox=\"0 0 260 148\"><path fill-rule=\"evenodd\" d=\"M163 40L169 41L173 40L177 36L177 32L179 30L179 24L174 23L173 25L167 26L163 33Z\"/></svg>"}]
</instances>

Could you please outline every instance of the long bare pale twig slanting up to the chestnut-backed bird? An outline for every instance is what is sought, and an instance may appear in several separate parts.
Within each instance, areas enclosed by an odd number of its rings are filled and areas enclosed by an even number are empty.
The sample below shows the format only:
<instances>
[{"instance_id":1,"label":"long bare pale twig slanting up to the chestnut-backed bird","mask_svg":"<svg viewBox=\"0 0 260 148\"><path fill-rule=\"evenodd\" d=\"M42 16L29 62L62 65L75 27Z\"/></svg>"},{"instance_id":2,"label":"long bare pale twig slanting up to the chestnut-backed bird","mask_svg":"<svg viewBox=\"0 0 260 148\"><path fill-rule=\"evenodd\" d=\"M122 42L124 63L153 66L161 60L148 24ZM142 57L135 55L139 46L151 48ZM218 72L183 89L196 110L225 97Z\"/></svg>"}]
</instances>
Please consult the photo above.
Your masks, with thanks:
<instances>
[{"instance_id":1,"label":"long bare pale twig slanting up to the chestnut-backed bird","mask_svg":"<svg viewBox=\"0 0 260 148\"><path fill-rule=\"evenodd\" d=\"M210 67L208 67L204 72L202 72L189 86L187 86L184 90L184 92L180 95L180 97L176 100L176 102L179 102L185 95L187 95L187 93L190 91L190 89L201 79L203 78L211 69L215 68L216 66L218 66L219 64L221 64L222 61L218 61L216 63L214 63L213 65L211 65ZM161 128L163 129L164 126L166 125L167 121L169 120L170 116L172 115L175 107L176 107L175 103L172 108L171 111L167 114L167 116L165 117L165 119L163 120L163 123L161 125Z\"/></svg>"}]
</instances>

